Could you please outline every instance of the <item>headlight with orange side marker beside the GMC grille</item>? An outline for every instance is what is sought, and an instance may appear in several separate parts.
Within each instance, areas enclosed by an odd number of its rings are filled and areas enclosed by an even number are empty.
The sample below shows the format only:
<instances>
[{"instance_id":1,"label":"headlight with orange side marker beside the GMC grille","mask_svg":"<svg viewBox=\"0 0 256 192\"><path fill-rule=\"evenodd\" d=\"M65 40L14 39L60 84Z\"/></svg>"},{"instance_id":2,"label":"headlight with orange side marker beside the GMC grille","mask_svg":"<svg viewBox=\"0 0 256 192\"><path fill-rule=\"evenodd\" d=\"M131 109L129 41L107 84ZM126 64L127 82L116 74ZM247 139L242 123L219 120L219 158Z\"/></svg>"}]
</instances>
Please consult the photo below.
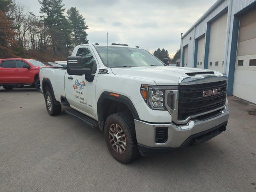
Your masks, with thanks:
<instances>
[{"instance_id":1,"label":"headlight with orange side marker beside the GMC grille","mask_svg":"<svg viewBox=\"0 0 256 192\"><path fill-rule=\"evenodd\" d=\"M170 106L173 106L172 102L174 100L171 94L166 96L165 92L166 90L177 90L177 88L177 86L150 86L142 84L140 93L151 109L166 110L165 100L168 100L167 103Z\"/></svg>"}]
</instances>

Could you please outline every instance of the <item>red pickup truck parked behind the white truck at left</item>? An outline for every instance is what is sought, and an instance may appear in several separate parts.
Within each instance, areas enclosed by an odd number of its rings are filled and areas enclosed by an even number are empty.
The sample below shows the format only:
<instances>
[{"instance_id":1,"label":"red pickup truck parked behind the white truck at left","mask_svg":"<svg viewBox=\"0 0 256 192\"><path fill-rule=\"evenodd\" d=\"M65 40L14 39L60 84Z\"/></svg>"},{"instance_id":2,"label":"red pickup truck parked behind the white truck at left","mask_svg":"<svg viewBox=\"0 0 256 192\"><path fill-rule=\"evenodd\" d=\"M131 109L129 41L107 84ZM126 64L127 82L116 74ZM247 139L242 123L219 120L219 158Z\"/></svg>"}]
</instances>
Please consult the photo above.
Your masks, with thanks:
<instances>
[{"instance_id":1,"label":"red pickup truck parked behind the white truck at left","mask_svg":"<svg viewBox=\"0 0 256 192\"><path fill-rule=\"evenodd\" d=\"M15 86L33 85L40 91L40 67L46 65L33 59L0 59L0 86L10 90Z\"/></svg>"}]
</instances>

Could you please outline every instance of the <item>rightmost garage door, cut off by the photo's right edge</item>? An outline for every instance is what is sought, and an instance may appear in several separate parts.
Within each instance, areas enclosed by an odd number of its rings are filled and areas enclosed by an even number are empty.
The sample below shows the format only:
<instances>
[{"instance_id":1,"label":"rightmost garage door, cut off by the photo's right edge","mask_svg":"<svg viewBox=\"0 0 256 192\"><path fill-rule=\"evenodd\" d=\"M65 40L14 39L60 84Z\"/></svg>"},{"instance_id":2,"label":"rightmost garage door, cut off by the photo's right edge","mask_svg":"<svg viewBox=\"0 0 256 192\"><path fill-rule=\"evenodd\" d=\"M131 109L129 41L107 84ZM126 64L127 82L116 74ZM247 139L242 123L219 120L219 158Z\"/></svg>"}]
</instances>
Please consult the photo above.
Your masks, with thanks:
<instances>
[{"instance_id":1,"label":"rightmost garage door, cut off by the photo's right edge","mask_svg":"<svg viewBox=\"0 0 256 192\"><path fill-rule=\"evenodd\" d=\"M233 95L256 103L256 9L240 17Z\"/></svg>"}]
</instances>

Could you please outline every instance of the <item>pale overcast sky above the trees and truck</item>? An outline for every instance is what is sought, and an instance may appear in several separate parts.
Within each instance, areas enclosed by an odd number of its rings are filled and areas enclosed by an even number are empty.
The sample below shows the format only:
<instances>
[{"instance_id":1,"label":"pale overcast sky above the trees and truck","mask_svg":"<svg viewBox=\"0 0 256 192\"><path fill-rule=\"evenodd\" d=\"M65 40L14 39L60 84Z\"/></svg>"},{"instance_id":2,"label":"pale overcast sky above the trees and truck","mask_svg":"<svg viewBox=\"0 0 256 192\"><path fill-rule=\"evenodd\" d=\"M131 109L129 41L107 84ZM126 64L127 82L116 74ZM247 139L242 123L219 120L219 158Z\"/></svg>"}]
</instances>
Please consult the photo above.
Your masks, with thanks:
<instances>
[{"instance_id":1,"label":"pale overcast sky above the trees and truck","mask_svg":"<svg viewBox=\"0 0 256 192\"><path fill-rule=\"evenodd\" d=\"M63 0L86 18L89 43L125 43L173 56L185 33L216 0ZM16 0L40 15L37 0Z\"/></svg>"}]
</instances>

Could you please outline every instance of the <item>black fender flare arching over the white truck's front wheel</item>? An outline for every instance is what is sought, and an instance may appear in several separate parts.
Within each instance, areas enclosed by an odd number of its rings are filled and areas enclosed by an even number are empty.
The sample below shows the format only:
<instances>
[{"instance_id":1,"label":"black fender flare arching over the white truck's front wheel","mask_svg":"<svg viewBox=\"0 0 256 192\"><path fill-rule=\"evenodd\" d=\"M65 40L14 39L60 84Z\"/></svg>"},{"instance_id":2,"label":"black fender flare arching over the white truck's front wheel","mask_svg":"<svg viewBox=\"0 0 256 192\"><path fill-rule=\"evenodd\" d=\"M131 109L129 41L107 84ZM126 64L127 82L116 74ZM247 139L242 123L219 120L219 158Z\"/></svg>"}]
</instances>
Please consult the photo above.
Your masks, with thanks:
<instances>
[{"instance_id":1,"label":"black fender flare arching over the white truck's front wheel","mask_svg":"<svg viewBox=\"0 0 256 192\"><path fill-rule=\"evenodd\" d=\"M108 92L108 91L102 92L97 102L97 114L98 114L98 122L99 122L100 130L103 130L103 127L104 127L103 117L102 117L102 114L100 113L100 107L102 106L102 102L104 101L104 99L110 99L110 100L118 101L125 104L129 108L130 112L132 113L132 116L135 119L140 119L137 110L135 109L132 101L128 97L120 94L118 94L119 96L116 97L116 96L110 95L110 93L113 94L113 92Z\"/></svg>"}]
</instances>

